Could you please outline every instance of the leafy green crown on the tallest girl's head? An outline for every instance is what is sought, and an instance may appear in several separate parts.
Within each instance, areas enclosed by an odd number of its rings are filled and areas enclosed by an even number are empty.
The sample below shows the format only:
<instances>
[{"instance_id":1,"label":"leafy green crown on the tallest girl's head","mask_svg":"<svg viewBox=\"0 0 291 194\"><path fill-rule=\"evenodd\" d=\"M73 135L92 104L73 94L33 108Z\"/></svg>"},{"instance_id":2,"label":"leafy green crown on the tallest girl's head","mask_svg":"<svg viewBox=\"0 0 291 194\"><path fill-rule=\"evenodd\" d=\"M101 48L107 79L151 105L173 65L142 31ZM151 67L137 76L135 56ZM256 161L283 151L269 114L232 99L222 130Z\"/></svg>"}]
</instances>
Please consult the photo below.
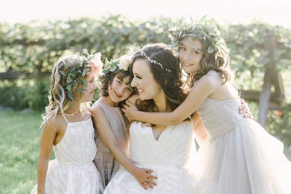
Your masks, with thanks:
<instances>
[{"instance_id":1,"label":"leafy green crown on the tallest girl's head","mask_svg":"<svg viewBox=\"0 0 291 194\"><path fill-rule=\"evenodd\" d=\"M190 16L191 18L191 16ZM177 49L186 36L189 36L187 42L190 44L192 43L193 38L198 38L200 40L208 40L211 43L211 46L208 47L207 52L212 53L214 50L222 52L222 45L224 44L223 36L224 36L224 30L221 31L221 33L218 33L219 30L217 29L216 25L213 24L214 19L212 18L207 24L206 15L204 15L199 23L194 24L193 20L191 18L191 24L183 24L183 20L179 20L179 27L177 25L173 27L172 20L169 19L168 26L169 30L165 31L169 34L169 38L171 39L171 48ZM204 22L204 24L203 24ZM218 35L219 34L219 35ZM197 49L195 45L192 45L194 49Z\"/></svg>"}]
</instances>

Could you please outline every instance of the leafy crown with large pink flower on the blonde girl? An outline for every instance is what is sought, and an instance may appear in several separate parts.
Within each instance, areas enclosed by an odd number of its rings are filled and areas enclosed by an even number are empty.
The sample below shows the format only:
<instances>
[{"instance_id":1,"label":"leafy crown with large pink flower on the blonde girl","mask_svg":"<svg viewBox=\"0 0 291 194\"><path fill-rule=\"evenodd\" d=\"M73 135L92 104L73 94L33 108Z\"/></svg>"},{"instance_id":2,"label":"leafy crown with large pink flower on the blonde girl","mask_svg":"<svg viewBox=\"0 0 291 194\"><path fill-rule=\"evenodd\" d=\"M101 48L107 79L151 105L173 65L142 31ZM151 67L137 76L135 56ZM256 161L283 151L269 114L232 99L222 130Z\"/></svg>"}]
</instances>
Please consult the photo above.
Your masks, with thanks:
<instances>
[{"instance_id":1,"label":"leafy crown with large pink flower on the blonde girl","mask_svg":"<svg viewBox=\"0 0 291 194\"><path fill-rule=\"evenodd\" d=\"M102 70L103 63L101 61L101 52L89 55L88 53L81 53L77 55L78 62L74 67L69 68L70 60L68 63L63 61L65 68L64 71L59 70L61 74L65 76L65 82L62 85L63 89L68 92L69 99L73 100L75 95L74 91L79 94L83 94L82 91L86 91L87 81L84 79L85 75L90 72L98 74ZM75 84L79 88L81 82L83 87L81 89L75 89Z\"/></svg>"}]
</instances>

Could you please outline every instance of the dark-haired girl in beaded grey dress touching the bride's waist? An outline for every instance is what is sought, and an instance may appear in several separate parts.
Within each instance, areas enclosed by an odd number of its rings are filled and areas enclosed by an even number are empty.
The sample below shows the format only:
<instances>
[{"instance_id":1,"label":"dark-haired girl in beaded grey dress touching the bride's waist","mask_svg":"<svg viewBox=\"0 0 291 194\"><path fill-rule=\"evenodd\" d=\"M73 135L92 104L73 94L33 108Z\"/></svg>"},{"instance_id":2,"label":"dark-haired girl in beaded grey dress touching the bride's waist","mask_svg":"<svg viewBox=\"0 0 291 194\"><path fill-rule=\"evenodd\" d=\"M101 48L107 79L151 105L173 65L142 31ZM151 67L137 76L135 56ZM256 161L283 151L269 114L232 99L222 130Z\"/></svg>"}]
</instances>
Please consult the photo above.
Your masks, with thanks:
<instances>
[{"instance_id":1,"label":"dark-haired girl in beaded grey dress touching the bride's waist","mask_svg":"<svg viewBox=\"0 0 291 194\"><path fill-rule=\"evenodd\" d=\"M129 137L125 122L127 119L120 109L121 103L134 93L134 89L130 86L132 76L128 71L130 58L130 55L123 55L120 59L112 60L99 76L101 97L92 105L96 129L95 143L98 148L94 163L104 187L121 164L144 189L147 189L147 186L153 188L152 185L155 183L151 179L157 177L150 174L152 170L136 167L128 158Z\"/></svg>"}]
</instances>

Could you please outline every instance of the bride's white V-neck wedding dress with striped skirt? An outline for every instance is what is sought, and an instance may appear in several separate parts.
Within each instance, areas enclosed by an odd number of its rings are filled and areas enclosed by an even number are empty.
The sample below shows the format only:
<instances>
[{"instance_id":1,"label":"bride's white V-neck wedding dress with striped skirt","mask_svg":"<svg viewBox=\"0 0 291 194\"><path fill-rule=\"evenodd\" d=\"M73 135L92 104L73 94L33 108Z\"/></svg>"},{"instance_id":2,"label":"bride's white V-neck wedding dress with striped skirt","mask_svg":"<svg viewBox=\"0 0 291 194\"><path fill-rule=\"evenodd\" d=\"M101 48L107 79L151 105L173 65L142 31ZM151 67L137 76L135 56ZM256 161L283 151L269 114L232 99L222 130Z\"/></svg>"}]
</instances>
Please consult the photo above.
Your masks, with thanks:
<instances>
[{"instance_id":1,"label":"bride's white V-neck wedding dress with striped skirt","mask_svg":"<svg viewBox=\"0 0 291 194\"><path fill-rule=\"evenodd\" d=\"M124 167L121 167L105 188L104 194L176 194L192 193L186 168L192 143L192 121L167 126L156 140L152 127L142 122L132 122L129 156L139 168L152 169L157 186L145 190ZM194 141L193 141L194 142ZM195 143L192 149L196 151Z\"/></svg>"}]
</instances>

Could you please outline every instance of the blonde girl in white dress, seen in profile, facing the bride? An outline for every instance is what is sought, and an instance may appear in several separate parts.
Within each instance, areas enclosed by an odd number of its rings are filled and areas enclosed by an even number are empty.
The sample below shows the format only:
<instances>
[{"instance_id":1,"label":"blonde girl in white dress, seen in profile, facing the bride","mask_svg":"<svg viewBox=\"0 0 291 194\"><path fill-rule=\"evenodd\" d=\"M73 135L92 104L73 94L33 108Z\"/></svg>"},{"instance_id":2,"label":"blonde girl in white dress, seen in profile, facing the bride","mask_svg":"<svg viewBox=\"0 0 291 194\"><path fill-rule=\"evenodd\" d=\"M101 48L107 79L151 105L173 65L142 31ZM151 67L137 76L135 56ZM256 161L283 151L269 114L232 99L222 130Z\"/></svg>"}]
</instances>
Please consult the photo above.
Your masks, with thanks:
<instances>
[{"instance_id":1,"label":"blonde girl in white dress, seen in profile, facing the bride","mask_svg":"<svg viewBox=\"0 0 291 194\"><path fill-rule=\"evenodd\" d=\"M93 163L96 145L89 111L97 88L94 77L103 65L100 57L100 53L61 57L52 69L33 194L96 194L104 190ZM56 159L49 161L52 147Z\"/></svg>"}]
</instances>

